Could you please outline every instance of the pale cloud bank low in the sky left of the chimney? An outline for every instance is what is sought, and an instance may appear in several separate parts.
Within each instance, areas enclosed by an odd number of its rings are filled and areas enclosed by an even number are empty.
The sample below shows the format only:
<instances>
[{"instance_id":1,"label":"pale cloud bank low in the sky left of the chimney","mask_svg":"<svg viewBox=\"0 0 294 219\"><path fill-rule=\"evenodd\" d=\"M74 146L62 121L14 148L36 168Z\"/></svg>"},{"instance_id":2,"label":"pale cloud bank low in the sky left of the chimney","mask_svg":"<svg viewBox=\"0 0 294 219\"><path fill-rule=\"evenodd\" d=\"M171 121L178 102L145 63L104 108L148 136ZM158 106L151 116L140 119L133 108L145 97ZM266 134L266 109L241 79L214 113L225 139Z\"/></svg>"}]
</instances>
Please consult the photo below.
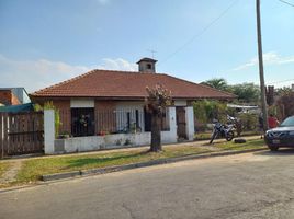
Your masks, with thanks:
<instances>
[{"instance_id":1,"label":"pale cloud bank low in the sky left of the chimney","mask_svg":"<svg viewBox=\"0 0 294 219\"><path fill-rule=\"evenodd\" d=\"M33 92L92 69L135 71L137 67L122 58L105 58L98 66L72 66L47 59L14 60L0 54L0 88L24 87Z\"/></svg>"}]
</instances>

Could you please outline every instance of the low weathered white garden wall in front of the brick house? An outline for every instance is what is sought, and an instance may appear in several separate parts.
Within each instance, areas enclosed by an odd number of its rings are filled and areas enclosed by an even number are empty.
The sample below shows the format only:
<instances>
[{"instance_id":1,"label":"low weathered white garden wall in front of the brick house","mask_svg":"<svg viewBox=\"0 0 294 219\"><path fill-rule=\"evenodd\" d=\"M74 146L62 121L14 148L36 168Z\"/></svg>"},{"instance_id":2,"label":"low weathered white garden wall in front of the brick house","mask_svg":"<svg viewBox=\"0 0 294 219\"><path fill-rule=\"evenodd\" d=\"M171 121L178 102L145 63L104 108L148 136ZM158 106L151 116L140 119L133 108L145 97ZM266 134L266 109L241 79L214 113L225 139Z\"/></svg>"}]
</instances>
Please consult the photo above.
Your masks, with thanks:
<instances>
[{"instance_id":1,"label":"low weathered white garden wall in front of the brick house","mask_svg":"<svg viewBox=\"0 0 294 219\"><path fill-rule=\"evenodd\" d=\"M106 136L88 136L56 139L54 153L72 153L114 148L129 148L150 145L150 132L115 134ZM161 131L162 143L177 142L177 132Z\"/></svg>"}]
</instances>

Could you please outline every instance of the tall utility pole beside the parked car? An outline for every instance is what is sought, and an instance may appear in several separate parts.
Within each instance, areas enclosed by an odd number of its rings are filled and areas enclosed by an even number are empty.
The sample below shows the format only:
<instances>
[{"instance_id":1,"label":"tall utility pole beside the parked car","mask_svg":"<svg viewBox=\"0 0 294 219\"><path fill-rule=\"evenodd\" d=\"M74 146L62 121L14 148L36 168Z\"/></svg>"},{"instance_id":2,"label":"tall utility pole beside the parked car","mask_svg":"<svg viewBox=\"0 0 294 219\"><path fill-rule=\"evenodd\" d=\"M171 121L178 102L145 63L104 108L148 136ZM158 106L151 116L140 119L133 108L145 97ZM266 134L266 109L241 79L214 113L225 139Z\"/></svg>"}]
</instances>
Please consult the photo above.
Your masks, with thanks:
<instances>
[{"instance_id":1,"label":"tall utility pole beside the parked car","mask_svg":"<svg viewBox=\"0 0 294 219\"><path fill-rule=\"evenodd\" d=\"M269 129L269 124L268 124L265 84L264 84L264 74L263 74L261 24L260 24L260 0L257 0L257 35L258 35L258 60L259 60L259 79L260 79L260 91L261 91L261 107L262 107L262 116L263 116L263 130L267 131Z\"/></svg>"}]
</instances>

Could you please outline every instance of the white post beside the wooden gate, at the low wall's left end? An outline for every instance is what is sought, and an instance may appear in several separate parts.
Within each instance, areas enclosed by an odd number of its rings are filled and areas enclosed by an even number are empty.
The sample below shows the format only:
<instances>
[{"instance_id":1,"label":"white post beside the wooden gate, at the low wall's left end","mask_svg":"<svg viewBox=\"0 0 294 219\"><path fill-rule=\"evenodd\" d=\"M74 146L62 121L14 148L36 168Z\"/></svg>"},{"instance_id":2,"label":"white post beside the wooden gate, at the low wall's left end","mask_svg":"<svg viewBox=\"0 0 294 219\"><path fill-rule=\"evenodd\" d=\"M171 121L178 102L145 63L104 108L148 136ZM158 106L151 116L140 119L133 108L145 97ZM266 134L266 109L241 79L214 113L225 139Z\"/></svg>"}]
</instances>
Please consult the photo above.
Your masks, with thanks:
<instances>
[{"instance_id":1,"label":"white post beside the wooden gate, at the low wall's left end","mask_svg":"<svg viewBox=\"0 0 294 219\"><path fill-rule=\"evenodd\" d=\"M45 154L54 154L55 115L54 110L44 110L44 150Z\"/></svg>"}]
</instances>

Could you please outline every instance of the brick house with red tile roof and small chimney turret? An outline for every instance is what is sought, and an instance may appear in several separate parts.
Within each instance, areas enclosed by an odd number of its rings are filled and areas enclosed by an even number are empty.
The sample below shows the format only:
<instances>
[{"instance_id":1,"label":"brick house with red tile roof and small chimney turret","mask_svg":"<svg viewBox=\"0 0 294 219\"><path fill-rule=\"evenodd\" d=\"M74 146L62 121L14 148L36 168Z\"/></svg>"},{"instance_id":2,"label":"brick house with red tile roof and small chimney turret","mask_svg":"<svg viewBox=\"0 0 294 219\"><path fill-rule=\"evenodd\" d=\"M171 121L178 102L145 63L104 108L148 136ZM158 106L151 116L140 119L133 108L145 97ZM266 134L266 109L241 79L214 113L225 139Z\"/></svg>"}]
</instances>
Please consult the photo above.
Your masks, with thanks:
<instances>
[{"instance_id":1,"label":"brick house with red tile roof and small chimney turret","mask_svg":"<svg viewBox=\"0 0 294 219\"><path fill-rule=\"evenodd\" d=\"M60 132L95 136L128 131L150 131L145 108L146 87L160 83L171 91L174 117L163 115L162 128L177 120L178 138L193 139L192 102L201 99L231 100L235 95L165 73L156 73L156 60L143 58L138 72L92 70L31 94L34 103L52 101L59 110ZM176 123L174 123L176 124Z\"/></svg>"}]
</instances>

